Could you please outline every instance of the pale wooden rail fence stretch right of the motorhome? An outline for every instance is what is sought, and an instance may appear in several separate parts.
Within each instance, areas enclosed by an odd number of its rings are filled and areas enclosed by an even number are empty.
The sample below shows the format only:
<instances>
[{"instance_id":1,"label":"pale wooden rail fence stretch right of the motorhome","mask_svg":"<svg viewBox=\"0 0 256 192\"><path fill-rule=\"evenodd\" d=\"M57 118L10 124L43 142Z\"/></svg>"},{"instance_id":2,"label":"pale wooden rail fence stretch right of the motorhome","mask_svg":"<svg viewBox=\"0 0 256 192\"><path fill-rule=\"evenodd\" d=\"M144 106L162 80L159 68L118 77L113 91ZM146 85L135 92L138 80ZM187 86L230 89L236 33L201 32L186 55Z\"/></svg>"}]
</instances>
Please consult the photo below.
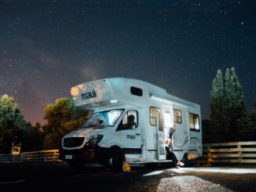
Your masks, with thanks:
<instances>
[{"instance_id":1,"label":"pale wooden rail fence stretch right of the motorhome","mask_svg":"<svg viewBox=\"0 0 256 192\"><path fill-rule=\"evenodd\" d=\"M202 160L202 159L201 159ZM232 142L203 144L205 163L256 163L256 142Z\"/></svg>"}]
</instances>

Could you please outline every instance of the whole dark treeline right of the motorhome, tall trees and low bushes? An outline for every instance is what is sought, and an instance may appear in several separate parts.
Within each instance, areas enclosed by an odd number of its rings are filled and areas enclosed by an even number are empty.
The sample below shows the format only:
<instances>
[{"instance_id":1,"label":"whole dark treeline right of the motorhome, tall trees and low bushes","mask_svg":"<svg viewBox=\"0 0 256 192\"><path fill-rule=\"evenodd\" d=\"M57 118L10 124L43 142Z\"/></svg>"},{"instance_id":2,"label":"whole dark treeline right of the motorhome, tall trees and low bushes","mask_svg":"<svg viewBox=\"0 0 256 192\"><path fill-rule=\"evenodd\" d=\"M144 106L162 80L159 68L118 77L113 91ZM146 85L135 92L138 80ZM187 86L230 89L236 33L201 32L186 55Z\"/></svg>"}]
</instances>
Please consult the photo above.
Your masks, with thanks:
<instances>
[{"instance_id":1,"label":"whole dark treeline right of the motorhome, tall trees and low bushes","mask_svg":"<svg viewBox=\"0 0 256 192\"><path fill-rule=\"evenodd\" d=\"M256 98L254 100L256 107ZM203 120L203 143L249 141L256 138L256 110L247 111L234 67L223 77L217 71L210 92L210 120Z\"/></svg>"}]
</instances>

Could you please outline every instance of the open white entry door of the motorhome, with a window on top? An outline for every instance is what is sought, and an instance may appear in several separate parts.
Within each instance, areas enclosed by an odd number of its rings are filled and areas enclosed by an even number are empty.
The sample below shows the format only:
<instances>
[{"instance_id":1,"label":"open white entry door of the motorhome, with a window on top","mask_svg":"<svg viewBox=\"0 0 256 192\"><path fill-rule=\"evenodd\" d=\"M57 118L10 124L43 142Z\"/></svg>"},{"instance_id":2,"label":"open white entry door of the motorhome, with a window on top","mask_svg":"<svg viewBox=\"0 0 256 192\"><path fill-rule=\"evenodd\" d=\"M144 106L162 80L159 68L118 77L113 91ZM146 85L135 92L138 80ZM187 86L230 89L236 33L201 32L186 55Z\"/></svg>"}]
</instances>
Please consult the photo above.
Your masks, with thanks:
<instances>
[{"instance_id":1,"label":"open white entry door of the motorhome, with a window on top","mask_svg":"<svg viewBox=\"0 0 256 192\"><path fill-rule=\"evenodd\" d=\"M165 160L166 159L166 149L165 149L165 132L163 129L163 113L157 112L157 121L156 121L156 128L157 128L157 153L158 153L158 160Z\"/></svg>"}]
</instances>

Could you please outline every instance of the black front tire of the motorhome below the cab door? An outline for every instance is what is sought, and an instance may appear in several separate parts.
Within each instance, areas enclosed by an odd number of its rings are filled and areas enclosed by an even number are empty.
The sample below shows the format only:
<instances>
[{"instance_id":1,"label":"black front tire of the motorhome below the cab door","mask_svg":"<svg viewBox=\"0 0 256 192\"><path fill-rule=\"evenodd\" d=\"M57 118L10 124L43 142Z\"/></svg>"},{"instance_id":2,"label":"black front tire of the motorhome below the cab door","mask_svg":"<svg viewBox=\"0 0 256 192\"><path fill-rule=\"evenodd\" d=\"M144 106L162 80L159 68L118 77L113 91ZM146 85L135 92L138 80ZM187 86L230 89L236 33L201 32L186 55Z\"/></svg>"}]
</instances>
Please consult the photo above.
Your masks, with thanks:
<instances>
[{"instance_id":1,"label":"black front tire of the motorhome below the cab door","mask_svg":"<svg viewBox=\"0 0 256 192\"><path fill-rule=\"evenodd\" d=\"M120 150L110 150L107 158L107 166L114 172L123 171L123 153Z\"/></svg>"}]
</instances>

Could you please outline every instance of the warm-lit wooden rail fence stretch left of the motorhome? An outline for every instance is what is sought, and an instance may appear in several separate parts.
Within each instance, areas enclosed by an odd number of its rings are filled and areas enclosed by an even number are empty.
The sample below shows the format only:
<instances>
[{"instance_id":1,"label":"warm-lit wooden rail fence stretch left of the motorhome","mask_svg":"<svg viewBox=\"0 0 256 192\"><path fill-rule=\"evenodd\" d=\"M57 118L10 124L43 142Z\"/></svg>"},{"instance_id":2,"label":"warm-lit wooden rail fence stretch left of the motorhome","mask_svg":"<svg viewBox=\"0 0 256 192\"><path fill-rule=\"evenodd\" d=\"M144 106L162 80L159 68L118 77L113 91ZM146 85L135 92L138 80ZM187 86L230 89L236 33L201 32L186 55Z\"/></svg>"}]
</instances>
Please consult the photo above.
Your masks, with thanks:
<instances>
[{"instance_id":1,"label":"warm-lit wooden rail fence stretch left of the motorhome","mask_svg":"<svg viewBox=\"0 0 256 192\"><path fill-rule=\"evenodd\" d=\"M59 150L40 150L21 154L0 154L0 163L9 162L61 162Z\"/></svg>"}]
</instances>

